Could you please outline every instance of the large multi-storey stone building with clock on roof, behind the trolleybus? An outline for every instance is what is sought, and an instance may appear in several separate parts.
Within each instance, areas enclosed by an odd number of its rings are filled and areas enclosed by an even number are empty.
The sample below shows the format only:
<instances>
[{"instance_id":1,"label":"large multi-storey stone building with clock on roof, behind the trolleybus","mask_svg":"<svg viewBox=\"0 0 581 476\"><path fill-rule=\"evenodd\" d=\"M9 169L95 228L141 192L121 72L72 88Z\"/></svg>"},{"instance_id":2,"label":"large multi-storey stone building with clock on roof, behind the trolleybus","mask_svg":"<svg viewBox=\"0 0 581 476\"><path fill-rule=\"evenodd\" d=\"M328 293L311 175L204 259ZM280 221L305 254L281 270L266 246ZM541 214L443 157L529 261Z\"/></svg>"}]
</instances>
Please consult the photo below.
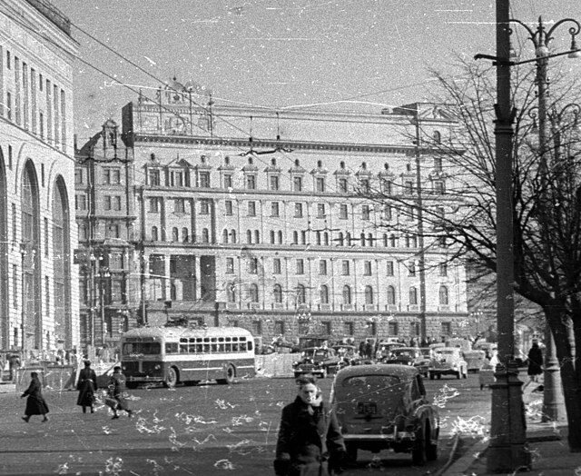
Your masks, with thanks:
<instances>
[{"instance_id":1,"label":"large multi-storey stone building with clock on roof, behind the trolleybus","mask_svg":"<svg viewBox=\"0 0 581 476\"><path fill-rule=\"evenodd\" d=\"M421 138L454 127L433 104L271 111L213 104L177 82L149 96L123 108L118 164L135 321L240 325L264 342L439 340L464 325L464 268L442 237L422 242L415 207L389 201L423 193L453 208L453 174Z\"/></svg>"}]
</instances>

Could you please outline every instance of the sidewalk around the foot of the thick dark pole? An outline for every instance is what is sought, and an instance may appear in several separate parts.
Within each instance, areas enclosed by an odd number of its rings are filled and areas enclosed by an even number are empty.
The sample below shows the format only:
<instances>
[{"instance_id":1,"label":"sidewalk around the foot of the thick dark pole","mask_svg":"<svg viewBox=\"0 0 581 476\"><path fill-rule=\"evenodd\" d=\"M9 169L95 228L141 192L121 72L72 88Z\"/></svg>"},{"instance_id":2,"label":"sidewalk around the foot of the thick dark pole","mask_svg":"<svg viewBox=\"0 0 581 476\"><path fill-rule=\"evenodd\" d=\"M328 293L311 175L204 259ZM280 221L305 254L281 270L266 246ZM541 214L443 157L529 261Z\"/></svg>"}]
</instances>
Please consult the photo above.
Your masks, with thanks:
<instances>
[{"instance_id":1,"label":"sidewalk around the foot of the thick dark pole","mask_svg":"<svg viewBox=\"0 0 581 476\"><path fill-rule=\"evenodd\" d=\"M523 401L534 397L527 390ZM538 398L538 397L537 397ZM540 394L542 399L542 393ZM532 470L529 473L542 476L580 476L581 454L572 453L567 445L566 423L542 423L539 415L527 418L527 445L531 452ZM487 473L487 442L478 442L454 461L443 476L484 476Z\"/></svg>"}]
</instances>

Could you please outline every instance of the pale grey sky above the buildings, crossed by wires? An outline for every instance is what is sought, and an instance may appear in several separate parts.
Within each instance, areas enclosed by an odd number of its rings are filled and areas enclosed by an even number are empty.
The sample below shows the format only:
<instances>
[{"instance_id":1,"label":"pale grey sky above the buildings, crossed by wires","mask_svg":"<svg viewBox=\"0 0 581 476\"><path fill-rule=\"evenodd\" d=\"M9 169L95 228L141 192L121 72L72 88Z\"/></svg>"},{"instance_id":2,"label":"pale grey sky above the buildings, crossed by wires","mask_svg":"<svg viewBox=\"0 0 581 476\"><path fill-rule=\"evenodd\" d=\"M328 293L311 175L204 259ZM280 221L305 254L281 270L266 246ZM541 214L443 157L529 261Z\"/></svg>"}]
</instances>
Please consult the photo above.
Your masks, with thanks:
<instances>
[{"instance_id":1,"label":"pale grey sky above the buildings, crossed by wires","mask_svg":"<svg viewBox=\"0 0 581 476\"><path fill-rule=\"evenodd\" d=\"M120 123L139 88L147 94L172 77L212 90L217 104L379 113L428 101L430 68L451 72L457 56L496 52L493 0L51 1L79 43L79 144L106 119ZM533 27L539 15L551 25L581 20L581 3L513 0L511 12ZM513 37L533 54L524 28ZM553 46L568 48L566 25ZM581 74L581 61L555 63Z\"/></svg>"}]
</instances>

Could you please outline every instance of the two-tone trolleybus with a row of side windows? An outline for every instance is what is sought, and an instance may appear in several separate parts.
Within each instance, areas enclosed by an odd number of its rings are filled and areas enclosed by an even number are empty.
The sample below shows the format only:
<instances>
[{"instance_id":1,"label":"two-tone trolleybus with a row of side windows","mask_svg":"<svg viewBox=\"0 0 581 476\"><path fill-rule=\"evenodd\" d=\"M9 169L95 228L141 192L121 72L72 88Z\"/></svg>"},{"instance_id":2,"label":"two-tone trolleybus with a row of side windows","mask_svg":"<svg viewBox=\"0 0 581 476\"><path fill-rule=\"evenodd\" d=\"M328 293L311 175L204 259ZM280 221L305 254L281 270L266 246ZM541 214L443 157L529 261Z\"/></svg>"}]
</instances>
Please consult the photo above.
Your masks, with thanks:
<instances>
[{"instance_id":1,"label":"two-tone trolleybus with a row of side windows","mask_svg":"<svg viewBox=\"0 0 581 476\"><path fill-rule=\"evenodd\" d=\"M167 387L215 380L231 383L255 375L254 340L239 327L141 327L121 338L127 386L157 382Z\"/></svg>"}]
</instances>

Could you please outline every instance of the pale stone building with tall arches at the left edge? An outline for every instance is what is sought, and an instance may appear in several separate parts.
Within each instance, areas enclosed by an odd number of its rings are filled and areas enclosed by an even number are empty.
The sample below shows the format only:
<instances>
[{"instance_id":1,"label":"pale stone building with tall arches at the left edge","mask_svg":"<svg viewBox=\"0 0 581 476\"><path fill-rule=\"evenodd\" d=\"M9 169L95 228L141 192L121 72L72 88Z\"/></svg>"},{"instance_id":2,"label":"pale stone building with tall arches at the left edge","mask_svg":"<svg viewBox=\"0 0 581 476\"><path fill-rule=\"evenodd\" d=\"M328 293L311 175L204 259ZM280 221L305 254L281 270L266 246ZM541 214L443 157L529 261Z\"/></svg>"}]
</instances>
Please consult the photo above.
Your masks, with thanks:
<instances>
[{"instance_id":1,"label":"pale stone building with tall arches at the left edge","mask_svg":"<svg viewBox=\"0 0 581 476\"><path fill-rule=\"evenodd\" d=\"M0 348L78 345L70 22L44 0L0 5Z\"/></svg>"}]
</instances>

